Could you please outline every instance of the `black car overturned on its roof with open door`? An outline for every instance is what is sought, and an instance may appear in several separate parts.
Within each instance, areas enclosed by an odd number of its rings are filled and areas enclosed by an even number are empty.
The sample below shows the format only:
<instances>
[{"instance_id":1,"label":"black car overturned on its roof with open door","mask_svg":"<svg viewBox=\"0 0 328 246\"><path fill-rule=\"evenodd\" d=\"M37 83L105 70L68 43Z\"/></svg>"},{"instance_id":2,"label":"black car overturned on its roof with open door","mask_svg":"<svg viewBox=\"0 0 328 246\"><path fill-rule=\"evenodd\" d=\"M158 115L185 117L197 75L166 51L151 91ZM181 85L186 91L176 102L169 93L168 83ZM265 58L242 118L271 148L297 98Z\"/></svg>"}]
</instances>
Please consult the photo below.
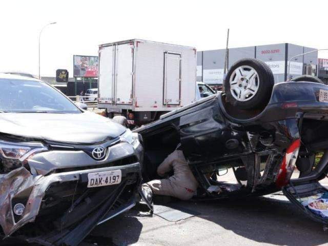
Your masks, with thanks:
<instances>
[{"instance_id":1,"label":"black car overturned on its roof with open door","mask_svg":"<svg viewBox=\"0 0 328 246\"><path fill-rule=\"evenodd\" d=\"M199 182L194 199L283 190L328 223L328 190L318 182L328 171L328 87L306 76L274 85L270 68L256 59L232 66L225 87L135 130L144 141L144 181L158 178L158 165L181 144ZM228 170L236 182L221 181Z\"/></svg>"}]
</instances>

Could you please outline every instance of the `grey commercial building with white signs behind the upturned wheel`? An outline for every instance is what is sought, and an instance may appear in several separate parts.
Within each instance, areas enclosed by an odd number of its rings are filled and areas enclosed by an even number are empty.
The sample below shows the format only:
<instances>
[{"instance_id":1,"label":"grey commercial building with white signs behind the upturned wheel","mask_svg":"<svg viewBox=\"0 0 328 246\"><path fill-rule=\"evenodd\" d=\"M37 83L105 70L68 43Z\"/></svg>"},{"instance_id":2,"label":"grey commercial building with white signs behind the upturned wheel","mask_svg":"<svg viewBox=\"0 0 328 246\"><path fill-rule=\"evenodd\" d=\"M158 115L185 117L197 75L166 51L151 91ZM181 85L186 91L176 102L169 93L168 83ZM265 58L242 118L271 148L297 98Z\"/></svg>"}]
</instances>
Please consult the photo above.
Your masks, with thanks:
<instances>
[{"instance_id":1,"label":"grey commercial building with white signs behind the upturned wheel","mask_svg":"<svg viewBox=\"0 0 328 246\"><path fill-rule=\"evenodd\" d=\"M295 55L314 50L316 49L288 43L231 48L228 50L228 69L239 59L257 58L269 65L275 83L302 74L316 75L318 52L313 52L293 58L290 64L290 76L288 76L289 60ZM209 85L221 85L225 54L226 49L198 51L197 81Z\"/></svg>"}]
</instances>

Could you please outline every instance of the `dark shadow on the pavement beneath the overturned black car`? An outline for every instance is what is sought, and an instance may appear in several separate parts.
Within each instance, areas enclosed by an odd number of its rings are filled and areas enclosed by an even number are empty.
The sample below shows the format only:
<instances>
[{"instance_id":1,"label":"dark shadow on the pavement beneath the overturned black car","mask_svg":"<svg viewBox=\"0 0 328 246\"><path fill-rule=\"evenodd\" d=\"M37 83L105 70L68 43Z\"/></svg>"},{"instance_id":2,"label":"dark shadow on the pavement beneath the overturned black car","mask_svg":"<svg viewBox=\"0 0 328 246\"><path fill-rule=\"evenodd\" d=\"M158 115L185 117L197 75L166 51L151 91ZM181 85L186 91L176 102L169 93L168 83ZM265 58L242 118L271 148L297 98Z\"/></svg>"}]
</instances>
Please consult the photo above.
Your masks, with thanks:
<instances>
[{"instance_id":1,"label":"dark shadow on the pavement beneath the overturned black car","mask_svg":"<svg viewBox=\"0 0 328 246\"><path fill-rule=\"evenodd\" d=\"M198 217L260 243L299 246L328 242L322 224L312 221L289 201L257 197L187 206L201 212Z\"/></svg>"}]
</instances>

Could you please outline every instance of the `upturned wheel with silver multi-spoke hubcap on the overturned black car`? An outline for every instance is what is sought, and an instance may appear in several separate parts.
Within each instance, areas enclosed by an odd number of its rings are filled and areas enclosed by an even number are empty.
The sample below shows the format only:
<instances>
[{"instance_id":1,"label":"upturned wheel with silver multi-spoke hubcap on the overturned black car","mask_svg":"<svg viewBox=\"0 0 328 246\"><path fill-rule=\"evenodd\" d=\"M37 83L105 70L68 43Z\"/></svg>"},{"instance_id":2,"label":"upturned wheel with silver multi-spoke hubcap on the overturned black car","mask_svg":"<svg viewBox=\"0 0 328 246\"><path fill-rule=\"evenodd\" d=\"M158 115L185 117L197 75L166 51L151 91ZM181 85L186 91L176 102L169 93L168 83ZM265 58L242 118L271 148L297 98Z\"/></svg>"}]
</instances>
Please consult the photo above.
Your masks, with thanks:
<instances>
[{"instance_id":1,"label":"upturned wheel with silver multi-spoke hubcap on the overturned black car","mask_svg":"<svg viewBox=\"0 0 328 246\"><path fill-rule=\"evenodd\" d=\"M260 109L267 105L274 77L270 67L263 61L244 58L237 61L224 80L227 100L239 109Z\"/></svg>"}]
</instances>

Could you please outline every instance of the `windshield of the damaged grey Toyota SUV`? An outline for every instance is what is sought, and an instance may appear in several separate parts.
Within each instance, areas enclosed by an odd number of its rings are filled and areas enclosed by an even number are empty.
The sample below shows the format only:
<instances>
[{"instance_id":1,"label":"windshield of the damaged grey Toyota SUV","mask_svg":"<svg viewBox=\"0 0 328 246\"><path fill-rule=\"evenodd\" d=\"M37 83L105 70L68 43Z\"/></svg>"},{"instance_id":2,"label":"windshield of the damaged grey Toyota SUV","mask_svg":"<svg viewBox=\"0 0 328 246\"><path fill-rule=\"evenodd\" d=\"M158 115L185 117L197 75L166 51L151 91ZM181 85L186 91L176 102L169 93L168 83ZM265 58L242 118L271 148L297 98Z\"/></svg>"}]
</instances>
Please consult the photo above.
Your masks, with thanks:
<instances>
[{"instance_id":1,"label":"windshield of the damaged grey Toyota SUV","mask_svg":"<svg viewBox=\"0 0 328 246\"><path fill-rule=\"evenodd\" d=\"M0 111L81 113L69 99L46 83L7 78L0 78Z\"/></svg>"}]
</instances>

